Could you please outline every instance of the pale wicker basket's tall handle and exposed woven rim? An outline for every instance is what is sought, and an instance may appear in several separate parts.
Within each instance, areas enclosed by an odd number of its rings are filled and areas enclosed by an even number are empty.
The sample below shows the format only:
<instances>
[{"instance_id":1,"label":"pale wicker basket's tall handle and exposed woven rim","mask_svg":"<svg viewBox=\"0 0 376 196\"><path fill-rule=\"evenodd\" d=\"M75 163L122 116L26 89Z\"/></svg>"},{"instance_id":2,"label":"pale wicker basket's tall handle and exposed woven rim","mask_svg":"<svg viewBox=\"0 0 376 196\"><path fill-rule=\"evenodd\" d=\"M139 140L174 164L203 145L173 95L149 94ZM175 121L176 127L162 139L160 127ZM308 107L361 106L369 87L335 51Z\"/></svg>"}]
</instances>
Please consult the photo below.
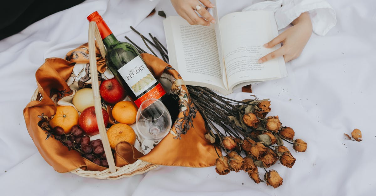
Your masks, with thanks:
<instances>
[{"instance_id":1,"label":"pale wicker basket's tall handle and exposed woven rim","mask_svg":"<svg viewBox=\"0 0 376 196\"><path fill-rule=\"evenodd\" d=\"M96 64L96 55L95 55L95 40L94 37L97 38L97 43L99 45L100 53L103 57L105 57L106 49L103 45L103 41L101 39L97 24L95 22L89 23L89 63L90 63L90 71L92 75L97 75L97 64ZM130 177L137 174L145 173L149 170L152 170L159 165L149 163L143 160L137 160L132 164L125 165L123 167L116 167L114 157L112 155L111 147L108 142L108 137L106 134L106 129L103 121L102 115L102 107L100 103L100 95L99 95L99 84L98 78L92 77L92 90L94 95L94 107L98 122L99 134L102 139L103 148L105 149L106 159L108 161L109 168L103 171L92 171L92 170L83 170L77 168L72 170L71 173L75 173L82 177L87 178L97 178L97 179L120 179L124 177ZM38 89L35 90L31 100L41 100L42 95L39 93Z\"/></svg>"}]
</instances>

